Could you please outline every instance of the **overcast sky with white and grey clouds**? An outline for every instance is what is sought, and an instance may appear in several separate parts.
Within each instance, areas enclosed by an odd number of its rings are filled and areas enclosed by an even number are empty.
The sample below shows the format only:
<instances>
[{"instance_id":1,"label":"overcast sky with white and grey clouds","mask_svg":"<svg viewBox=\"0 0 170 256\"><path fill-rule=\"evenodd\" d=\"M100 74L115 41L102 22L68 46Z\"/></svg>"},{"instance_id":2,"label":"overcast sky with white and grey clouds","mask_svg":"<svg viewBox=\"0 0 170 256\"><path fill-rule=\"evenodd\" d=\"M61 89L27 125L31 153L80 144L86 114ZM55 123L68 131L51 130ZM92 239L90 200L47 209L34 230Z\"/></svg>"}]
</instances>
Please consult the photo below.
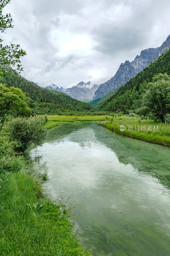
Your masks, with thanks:
<instances>
[{"instance_id":1,"label":"overcast sky with white and grey clouds","mask_svg":"<svg viewBox=\"0 0 170 256\"><path fill-rule=\"evenodd\" d=\"M106 82L125 60L170 34L169 0L11 0L4 43L20 44L22 75L42 86Z\"/></svg>"}]
</instances>

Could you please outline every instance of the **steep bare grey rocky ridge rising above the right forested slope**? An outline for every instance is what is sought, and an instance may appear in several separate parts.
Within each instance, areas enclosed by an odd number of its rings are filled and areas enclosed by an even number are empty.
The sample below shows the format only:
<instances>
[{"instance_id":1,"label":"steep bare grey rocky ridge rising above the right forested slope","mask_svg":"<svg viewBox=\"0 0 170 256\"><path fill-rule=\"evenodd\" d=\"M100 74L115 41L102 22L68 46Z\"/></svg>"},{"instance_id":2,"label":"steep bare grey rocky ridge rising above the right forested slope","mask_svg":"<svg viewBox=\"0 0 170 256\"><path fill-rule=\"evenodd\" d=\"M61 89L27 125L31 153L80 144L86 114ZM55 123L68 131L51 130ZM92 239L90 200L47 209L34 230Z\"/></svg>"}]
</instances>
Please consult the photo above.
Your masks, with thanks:
<instances>
[{"instance_id":1,"label":"steep bare grey rocky ridge rising above the right forested slope","mask_svg":"<svg viewBox=\"0 0 170 256\"><path fill-rule=\"evenodd\" d=\"M158 59L158 57L165 53L169 48L170 35L160 47L145 49L140 55L137 55L133 61L130 62L129 60L126 60L124 63L121 63L115 76L104 84L100 84L99 88L94 93L93 100L103 98L107 93L126 84L132 77L136 76L154 60Z\"/></svg>"}]
</instances>

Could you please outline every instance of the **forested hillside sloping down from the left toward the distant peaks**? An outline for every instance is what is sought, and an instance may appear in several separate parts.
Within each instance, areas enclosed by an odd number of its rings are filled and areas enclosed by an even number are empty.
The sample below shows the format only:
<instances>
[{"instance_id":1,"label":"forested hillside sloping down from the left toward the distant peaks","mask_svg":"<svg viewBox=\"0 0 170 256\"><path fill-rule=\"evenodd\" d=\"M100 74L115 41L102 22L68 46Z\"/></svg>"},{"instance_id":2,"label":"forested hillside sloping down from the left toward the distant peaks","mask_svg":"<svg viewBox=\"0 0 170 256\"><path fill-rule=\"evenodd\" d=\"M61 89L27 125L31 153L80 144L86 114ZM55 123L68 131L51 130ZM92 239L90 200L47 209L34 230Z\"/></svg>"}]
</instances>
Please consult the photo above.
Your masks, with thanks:
<instances>
[{"instance_id":1,"label":"forested hillside sloping down from the left toward the distant peaks","mask_svg":"<svg viewBox=\"0 0 170 256\"><path fill-rule=\"evenodd\" d=\"M6 83L8 87L18 87L25 92L26 96L31 99L28 100L29 107L37 114L58 114L63 111L84 111L92 108L89 103L72 99L62 92L54 93L52 90L41 88L13 73L9 74L9 76L4 76L3 83Z\"/></svg>"}]
</instances>

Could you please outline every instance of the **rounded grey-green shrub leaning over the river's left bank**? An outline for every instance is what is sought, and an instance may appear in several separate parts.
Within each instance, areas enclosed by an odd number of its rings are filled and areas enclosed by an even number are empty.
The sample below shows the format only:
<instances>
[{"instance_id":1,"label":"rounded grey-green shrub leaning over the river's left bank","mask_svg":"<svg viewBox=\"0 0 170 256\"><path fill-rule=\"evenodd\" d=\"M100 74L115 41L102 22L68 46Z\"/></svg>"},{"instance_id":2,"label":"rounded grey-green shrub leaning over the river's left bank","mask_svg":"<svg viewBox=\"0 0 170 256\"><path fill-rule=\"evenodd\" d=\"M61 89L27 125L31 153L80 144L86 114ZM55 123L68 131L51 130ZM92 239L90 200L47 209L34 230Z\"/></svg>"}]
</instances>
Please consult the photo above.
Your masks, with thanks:
<instances>
[{"instance_id":1,"label":"rounded grey-green shrub leaning over the river's left bank","mask_svg":"<svg viewBox=\"0 0 170 256\"><path fill-rule=\"evenodd\" d=\"M47 129L43 127L44 123L43 118L37 117L10 118L4 123L3 131L8 133L11 141L17 143L15 149L24 152L32 143L35 147L42 145L47 135Z\"/></svg>"}]
</instances>

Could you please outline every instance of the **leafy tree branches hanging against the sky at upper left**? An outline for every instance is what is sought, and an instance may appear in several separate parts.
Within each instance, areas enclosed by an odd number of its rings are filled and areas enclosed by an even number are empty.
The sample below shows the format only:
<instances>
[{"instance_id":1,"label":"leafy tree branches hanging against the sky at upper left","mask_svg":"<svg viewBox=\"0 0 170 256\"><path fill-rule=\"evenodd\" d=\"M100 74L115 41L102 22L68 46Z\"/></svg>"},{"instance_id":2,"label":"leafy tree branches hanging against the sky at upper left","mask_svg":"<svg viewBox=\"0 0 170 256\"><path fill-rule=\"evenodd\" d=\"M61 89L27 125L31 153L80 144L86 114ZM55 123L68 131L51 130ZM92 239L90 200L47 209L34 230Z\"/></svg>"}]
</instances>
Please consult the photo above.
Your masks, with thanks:
<instances>
[{"instance_id":1,"label":"leafy tree branches hanging against the sky at upper left","mask_svg":"<svg viewBox=\"0 0 170 256\"><path fill-rule=\"evenodd\" d=\"M2 14L3 8L10 2L10 0L0 0L0 31L3 33L6 28L12 28L11 14ZM3 40L0 39L0 76L6 75L15 70L20 73L22 70L19 60L20 57L26 55L26 52L20 48L20 45L11 44L3 45ZM19 72L18 72L19 71Z\"/></svg>"}]
</instances>

